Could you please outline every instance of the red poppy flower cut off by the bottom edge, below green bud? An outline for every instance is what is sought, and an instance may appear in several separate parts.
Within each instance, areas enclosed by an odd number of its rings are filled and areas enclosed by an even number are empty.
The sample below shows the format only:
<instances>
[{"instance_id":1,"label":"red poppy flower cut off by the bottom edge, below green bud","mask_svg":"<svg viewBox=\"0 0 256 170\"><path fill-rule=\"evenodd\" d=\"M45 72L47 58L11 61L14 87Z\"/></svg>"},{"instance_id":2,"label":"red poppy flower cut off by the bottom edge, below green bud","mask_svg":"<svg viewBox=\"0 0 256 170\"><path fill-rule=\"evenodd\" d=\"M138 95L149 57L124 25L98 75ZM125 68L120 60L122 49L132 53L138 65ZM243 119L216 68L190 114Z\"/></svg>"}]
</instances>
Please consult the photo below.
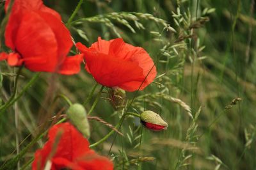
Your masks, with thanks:
<instances>
[{"instance_id":1,"label":"red poppy flower cut off by the bottom edge, below green bud","mask_svg":"<svg viewBox=\"0 0 256 170\"><path fill-rule=\"evenodd\" d=\"M44 148L35 153L33 170L44 169L45 165L50 166L52 170L113 169L112 162L90 150L87 139L70 123L54 125L49 130L48 137Z\"/></svg>"}]
</instances>

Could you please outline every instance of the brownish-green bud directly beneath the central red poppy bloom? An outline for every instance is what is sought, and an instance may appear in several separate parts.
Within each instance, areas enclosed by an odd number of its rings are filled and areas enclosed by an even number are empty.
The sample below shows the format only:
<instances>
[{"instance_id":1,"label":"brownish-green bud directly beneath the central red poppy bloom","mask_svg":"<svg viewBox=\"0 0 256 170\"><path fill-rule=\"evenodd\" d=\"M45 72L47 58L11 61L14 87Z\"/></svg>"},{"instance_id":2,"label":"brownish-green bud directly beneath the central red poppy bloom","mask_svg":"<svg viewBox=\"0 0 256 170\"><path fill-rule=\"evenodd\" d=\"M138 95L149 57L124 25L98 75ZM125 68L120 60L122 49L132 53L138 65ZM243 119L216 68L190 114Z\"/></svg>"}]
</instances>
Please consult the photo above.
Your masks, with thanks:
<instances>
[{"instance_id":1,"label":"brownish-green bud directly beneath the central red poppy bloom","mask_svg":"<svg viewBox=\"0 0 256 170\"><path fill-rule=\"evenodd\" d=\"M109 98L111 99L111 104L115 107L116 110L122 109L125 103L125 91L120 88L110 88L109 89Z\"/></svg>"}]
</instances>

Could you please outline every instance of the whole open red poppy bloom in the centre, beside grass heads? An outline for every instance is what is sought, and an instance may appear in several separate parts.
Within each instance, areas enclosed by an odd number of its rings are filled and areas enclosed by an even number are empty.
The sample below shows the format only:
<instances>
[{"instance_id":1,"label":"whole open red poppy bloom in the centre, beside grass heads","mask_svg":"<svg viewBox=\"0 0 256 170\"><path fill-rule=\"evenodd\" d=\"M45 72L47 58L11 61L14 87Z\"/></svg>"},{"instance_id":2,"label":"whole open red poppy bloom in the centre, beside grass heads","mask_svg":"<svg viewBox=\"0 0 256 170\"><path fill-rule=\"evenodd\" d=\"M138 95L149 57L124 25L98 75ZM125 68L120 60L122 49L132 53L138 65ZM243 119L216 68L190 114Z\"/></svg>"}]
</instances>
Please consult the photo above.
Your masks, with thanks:
<instances>
[{"instance_id":1,"label":"whole open red poppy bloom in the centre, beside grass heads","mask_svg":"<svg viewBox=\"0 0 256 170\"><path fill-rule=\"evenodd\" d=\"M104 86L142 90L156 77L156 66L148 53L122 38L106 41L99 37L90 48L82 43L76 47L84 54L86 70Z\"/></svg>"}]
</instances>

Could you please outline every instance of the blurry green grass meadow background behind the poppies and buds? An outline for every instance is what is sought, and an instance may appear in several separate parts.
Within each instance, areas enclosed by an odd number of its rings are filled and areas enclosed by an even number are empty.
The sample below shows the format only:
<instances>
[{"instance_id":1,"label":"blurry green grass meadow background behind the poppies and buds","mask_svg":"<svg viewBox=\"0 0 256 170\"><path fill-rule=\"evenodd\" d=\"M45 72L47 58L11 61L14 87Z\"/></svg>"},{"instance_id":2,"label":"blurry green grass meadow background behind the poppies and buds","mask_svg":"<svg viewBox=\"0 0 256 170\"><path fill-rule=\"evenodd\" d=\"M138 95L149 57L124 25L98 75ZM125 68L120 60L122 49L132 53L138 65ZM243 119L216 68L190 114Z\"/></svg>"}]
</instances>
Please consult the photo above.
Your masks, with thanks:
<instances>
[{"instance_id":1,"label":"blurry green grass meadow background behind the poppies and buds","mask_svg":"<svg viewBox=\"0 0 256 170\"><path fill-rule=\"evenodd\" d=\"M78 3L44 2L58 11L65 23ZM3 3L0 6L2 20ZM134 98L131 111L155 111L169 125L164 132L151 132L141 128L138 119L127 118L120 129L124 137L114 134L93 149L113 158L115 169L255 169L254 8L254 0L84 1L69 26L74 41L90 46L98 36L106 40L121 36L125 42L145 48L156 63L157 78L145 91L127 94L130 101ZM0 69L1 98L6 101L17 68L1 62ZM18 91L33 74L22 70ZM84 69L70 77L41 73L17 104L0 115L0 164L15 156L11 153L16 148L17 131L22 149L42 123L47 129L52 120L57 121L52 116L65 114L67 104L62 100L51 105L56 95L62 93L74 103L83 103L94 85ZM242 100L230 105L235 98ZM15 111L19 112L17 128ZM106 93L102 93L92 116L112 125L120 119ZM91 144L111 130L94 120L90 125ZM38 141L20 164L28 162L46 139Z\"/></svg>"}]
</instances>

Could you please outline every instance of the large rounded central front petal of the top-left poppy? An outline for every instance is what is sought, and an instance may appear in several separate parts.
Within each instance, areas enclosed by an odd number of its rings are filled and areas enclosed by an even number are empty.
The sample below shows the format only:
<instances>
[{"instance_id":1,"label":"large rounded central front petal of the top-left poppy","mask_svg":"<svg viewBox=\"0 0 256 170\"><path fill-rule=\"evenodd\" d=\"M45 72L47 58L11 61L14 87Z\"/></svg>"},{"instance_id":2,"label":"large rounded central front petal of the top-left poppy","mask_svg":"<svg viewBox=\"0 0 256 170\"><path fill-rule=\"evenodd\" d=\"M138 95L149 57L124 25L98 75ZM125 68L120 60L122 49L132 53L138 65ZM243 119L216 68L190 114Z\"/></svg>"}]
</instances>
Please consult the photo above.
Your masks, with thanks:
<instances>
[{"instance_id":1,"label":"large rounded central front petal of the top-left poppy","mask_svg":"<svg viewBox=\"0 0 256 170\"><path fill-rule=\"evenodd\" d=\"M33 23L33 24L31 24ZM16 50L25 66L35 72L54 72L58 64L58 43L51 27L36 12L27 12L17 32Z\"/></svg>"}]
</instances>

